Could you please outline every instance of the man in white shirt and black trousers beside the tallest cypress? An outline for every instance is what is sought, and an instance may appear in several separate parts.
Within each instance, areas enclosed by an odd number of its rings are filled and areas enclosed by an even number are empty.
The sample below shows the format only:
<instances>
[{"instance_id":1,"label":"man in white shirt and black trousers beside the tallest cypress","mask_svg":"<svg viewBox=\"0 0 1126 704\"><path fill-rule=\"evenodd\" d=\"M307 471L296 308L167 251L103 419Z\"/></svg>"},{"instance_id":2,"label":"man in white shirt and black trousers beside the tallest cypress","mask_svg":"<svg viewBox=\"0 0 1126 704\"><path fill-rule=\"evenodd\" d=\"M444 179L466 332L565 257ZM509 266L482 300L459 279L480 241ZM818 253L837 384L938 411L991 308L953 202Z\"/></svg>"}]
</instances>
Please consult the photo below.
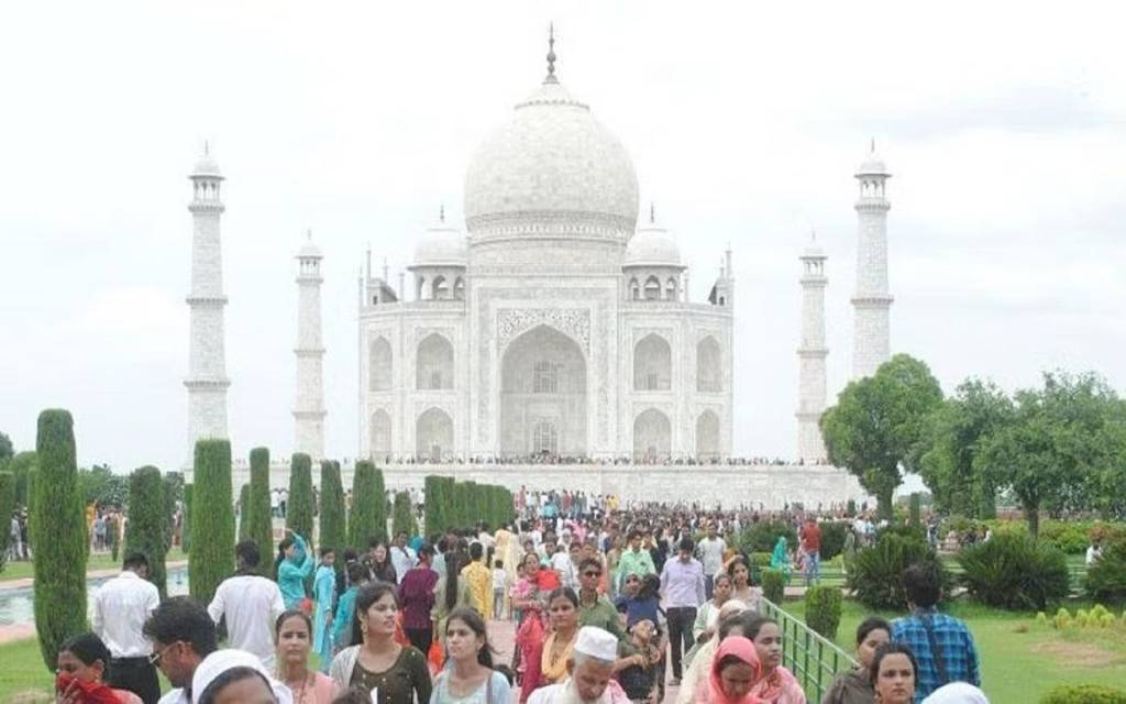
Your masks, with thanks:
<instances>
[{"instance_id":1,"label":"man in white shirt and black trousers beside the tallest cypress","mask_svg":"<svg viewBox=\"0 0 1126 704\"><path fill-rule=\"evenodd\" d=\"M160 592L148 577L149 558L143 552L125 555L122 573L93 595L93 632L109 649L106 684L155 704L160 681L149 662L152 644L144 636L144 622L160 606Z\"/></svg>"}]
</instances>

